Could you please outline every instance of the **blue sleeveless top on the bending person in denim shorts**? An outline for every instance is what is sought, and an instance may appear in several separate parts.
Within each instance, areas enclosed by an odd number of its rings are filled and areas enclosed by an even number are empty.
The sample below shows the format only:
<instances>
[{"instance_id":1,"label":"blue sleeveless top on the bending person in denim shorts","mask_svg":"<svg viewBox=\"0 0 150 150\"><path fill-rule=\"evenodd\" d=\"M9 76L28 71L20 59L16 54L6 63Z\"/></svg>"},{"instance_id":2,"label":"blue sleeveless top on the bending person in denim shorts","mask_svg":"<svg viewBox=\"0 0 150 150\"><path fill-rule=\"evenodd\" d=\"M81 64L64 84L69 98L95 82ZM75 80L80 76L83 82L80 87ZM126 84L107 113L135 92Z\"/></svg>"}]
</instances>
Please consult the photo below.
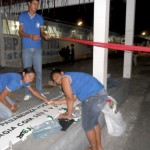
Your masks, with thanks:
<instances>
[{"instance_id":1,"label":"blue sleeveless top on the bending person in denim shorts","mask_svg":"<svg viewBox=\"0 0 150 150\"><path fill-rule=\"evenodd\" d=\"M86 73L66 72L64 76L70 77L70 86L73 94L76 95L80 101L86 100L104 88L96 78Z\"/></svg>"}]
</instances>

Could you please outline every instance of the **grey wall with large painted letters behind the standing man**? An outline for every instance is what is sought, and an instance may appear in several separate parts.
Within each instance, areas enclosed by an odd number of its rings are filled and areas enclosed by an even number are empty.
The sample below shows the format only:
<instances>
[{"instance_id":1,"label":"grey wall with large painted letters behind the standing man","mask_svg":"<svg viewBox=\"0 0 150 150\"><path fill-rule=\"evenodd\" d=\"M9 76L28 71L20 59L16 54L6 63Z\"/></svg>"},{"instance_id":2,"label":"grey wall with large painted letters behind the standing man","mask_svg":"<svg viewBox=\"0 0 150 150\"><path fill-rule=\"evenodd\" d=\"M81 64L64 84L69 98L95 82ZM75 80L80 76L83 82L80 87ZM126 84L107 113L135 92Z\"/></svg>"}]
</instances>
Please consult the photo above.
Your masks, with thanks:
<instances>
[{"instance_id":1,"label":"grey wall with large painted letters behind the standing man","mask_svg":"<svg viewBox=\"0 0 150 150\"><path fill-rule=\"evenodd\" d=\"M59 50L69 46L70 42L58 39L42 40L43 64L61 62ZM91 47L87 45L74 44L75 59L88 58L92 56ZM21 38L15 35L4 35L4 50L7 67L22 67Z\"/></svg>"}]
</instances>

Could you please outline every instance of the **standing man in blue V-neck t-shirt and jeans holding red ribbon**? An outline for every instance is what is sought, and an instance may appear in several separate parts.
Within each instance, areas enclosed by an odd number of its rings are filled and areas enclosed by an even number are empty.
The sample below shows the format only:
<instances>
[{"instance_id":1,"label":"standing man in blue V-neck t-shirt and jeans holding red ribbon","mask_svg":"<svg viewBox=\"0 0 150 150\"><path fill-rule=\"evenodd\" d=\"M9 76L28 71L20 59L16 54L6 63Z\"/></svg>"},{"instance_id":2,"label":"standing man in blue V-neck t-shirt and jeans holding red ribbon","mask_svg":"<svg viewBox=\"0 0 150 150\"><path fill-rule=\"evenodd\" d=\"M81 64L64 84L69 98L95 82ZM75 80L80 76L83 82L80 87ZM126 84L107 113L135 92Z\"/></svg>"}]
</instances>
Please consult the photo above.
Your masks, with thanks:
<instances>
[{"instance_id":1,"label":"standing man in blue V-neck t-shirt and jeans holding red ribbon","mask_svg":"<svg viewBox=\"0 0 150 150\"><path fill-rule=\"evenodd\" d=\"M42 48L41 38L50 39L50 35L44 32L43 17L36 13L39 0L28 0L28 12L19 16L19 35L22 36L22 60L23 67L32 67L36 72L36 89L42 96ZM31 98L26 89L24 100Z\"/></svg>"}]
</instances>

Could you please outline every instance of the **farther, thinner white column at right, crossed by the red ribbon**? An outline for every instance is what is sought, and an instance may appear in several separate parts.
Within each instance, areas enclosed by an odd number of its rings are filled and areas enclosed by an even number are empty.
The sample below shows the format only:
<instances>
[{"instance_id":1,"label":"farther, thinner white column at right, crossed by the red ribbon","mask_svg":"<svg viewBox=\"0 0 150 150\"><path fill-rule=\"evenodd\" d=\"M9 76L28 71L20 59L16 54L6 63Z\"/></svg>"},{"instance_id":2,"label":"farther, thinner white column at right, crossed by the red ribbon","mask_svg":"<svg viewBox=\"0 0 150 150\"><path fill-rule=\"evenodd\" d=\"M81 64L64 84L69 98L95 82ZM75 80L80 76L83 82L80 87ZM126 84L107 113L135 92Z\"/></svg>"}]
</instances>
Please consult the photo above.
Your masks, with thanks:
<instances>
[{"instance_id":1,"label":"farther, thinner white column at right, crossed by the red ribbon","mask_svg":"<svg viewBox=\"0 0 150 150\"><path fill-rule=\"evenodd\" d=\"M133 45L135 2L136 0L126 0L125 44L127 45ZM123 77L131 78L131 72L132 72L132 52L126 51L124 53Z\"/></svg>"}]
</instances>

